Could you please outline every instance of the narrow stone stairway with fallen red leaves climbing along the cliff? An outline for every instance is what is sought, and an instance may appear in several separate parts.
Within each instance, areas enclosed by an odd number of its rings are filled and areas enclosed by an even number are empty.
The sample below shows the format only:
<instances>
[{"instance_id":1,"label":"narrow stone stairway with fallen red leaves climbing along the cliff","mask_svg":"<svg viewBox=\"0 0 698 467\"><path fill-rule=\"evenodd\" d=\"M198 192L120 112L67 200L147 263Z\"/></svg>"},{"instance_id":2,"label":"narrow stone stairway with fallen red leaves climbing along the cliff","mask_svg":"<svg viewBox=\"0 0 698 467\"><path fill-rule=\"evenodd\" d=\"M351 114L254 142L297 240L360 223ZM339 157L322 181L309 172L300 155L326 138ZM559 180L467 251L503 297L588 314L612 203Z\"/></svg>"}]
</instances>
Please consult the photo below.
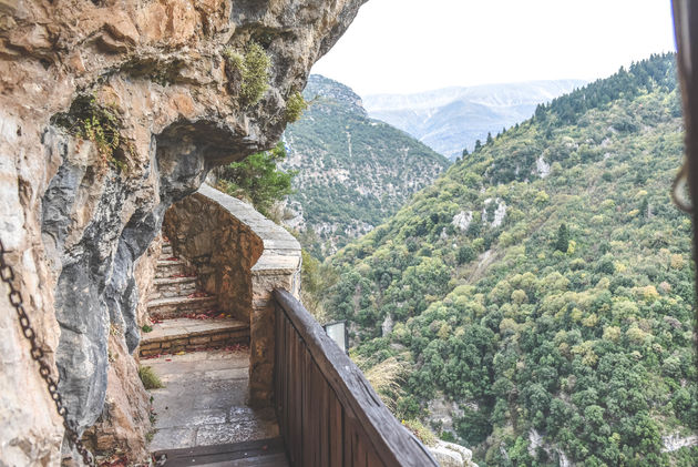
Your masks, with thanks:
<instances>
[{"instance_id":1,"label":"narrow stone stairway with fallen red leaves climbing along the cliff","mask_svg":"<svg viewBox=\"0 0 698 467\"><path fill-rule=\"evenodd\" d=\"M189 272L165 241L147 303L154 324L142 333L141 356L249 343L249 325L220 312L216 297L198 291Z\"/></svg>"}]
</instances>

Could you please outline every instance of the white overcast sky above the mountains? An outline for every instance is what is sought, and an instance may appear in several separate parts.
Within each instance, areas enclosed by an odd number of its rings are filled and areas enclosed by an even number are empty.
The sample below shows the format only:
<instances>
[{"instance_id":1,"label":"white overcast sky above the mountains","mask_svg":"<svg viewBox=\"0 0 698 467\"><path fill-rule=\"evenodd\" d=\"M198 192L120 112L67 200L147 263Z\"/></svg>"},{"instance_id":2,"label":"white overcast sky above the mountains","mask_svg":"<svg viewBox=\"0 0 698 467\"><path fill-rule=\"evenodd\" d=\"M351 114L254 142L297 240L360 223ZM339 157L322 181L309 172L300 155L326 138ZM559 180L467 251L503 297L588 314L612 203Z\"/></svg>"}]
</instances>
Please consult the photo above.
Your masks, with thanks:
<instances>
[{"instance_id":1,"label":"white overcast sky above the mountains","mask_svg":"<svg viewBox=\"0 0 698 467\"><path fill-rule=\"evenodd\" d=\"M675 49L670 0L369 0L312 72L408 93L593 80Z\"/></svg>"}]
</instances>

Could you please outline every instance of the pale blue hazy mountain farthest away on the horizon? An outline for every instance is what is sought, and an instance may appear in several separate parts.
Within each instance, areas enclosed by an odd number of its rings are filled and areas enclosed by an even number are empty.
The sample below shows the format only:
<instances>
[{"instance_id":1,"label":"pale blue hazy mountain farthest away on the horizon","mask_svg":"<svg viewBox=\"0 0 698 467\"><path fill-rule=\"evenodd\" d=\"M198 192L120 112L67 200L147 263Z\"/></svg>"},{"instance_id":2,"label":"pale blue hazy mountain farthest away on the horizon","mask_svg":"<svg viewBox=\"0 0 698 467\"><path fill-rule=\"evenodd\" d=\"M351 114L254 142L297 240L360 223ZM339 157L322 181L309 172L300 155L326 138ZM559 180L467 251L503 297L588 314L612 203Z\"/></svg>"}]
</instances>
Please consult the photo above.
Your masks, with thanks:
<instances>
[{"instance_id":1,"label":"pale blue hazy mountain farthest away on the horizon","mask_svg":"<svg viewBox=\"0 0 698 467\"><path fill-rule=\"evenodd\" d=\"M530 81L448 88L417 94L365 98L369 115L404 130L455 160L475 141L527 120L536 105L585 84L581 80Z\"/></svg>"}]
</instances>

